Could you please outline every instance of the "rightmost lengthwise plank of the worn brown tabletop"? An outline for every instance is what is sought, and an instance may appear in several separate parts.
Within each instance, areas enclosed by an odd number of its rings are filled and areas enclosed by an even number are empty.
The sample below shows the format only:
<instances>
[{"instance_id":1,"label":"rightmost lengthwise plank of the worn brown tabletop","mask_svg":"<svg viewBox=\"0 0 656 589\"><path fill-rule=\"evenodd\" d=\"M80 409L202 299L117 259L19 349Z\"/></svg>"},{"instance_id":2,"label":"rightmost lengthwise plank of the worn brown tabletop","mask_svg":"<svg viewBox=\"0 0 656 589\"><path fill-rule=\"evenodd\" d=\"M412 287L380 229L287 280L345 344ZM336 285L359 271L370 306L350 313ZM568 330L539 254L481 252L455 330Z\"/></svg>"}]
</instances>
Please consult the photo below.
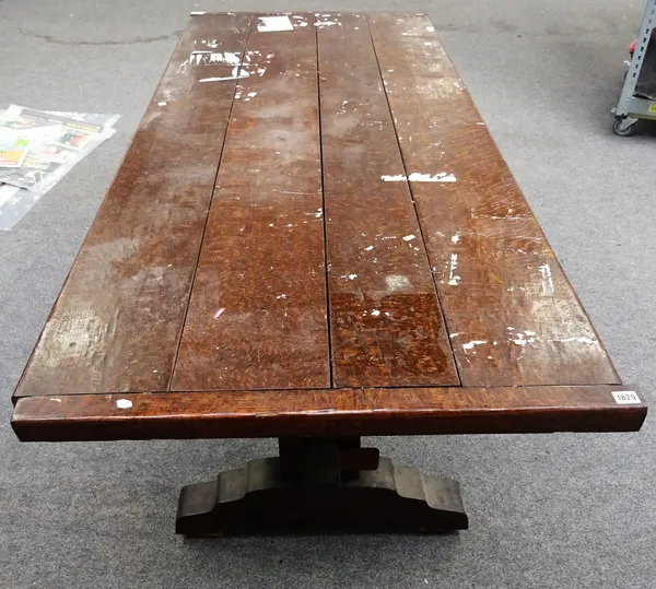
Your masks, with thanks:
<instances>
[{"instance_id":1,"label":"rightmost lengthwise plank of the worn brown tabletop","mask_svg":"<svg viewBox=\"0 0 656 589\"><path fill-rule=\"evenodd\" d=\"M368 21L462 385L619 382L430 21Z\"/></svg>"}]
</instances>

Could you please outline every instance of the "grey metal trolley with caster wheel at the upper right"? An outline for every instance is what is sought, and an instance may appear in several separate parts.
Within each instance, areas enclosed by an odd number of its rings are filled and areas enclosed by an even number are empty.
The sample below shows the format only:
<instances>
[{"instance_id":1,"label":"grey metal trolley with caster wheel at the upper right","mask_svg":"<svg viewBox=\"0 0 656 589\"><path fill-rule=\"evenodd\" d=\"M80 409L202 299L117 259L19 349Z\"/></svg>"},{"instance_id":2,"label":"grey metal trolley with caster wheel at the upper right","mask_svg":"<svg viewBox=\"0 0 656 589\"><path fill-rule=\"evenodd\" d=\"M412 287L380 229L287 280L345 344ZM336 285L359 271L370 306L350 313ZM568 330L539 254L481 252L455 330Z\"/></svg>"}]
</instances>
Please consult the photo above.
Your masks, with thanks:
<instances>
[{"instance_id":1,"label":"grey metal trolley with caster wheel at the upper right","mask_svg":"<svg viewBox=\"0 0 656 589\"><path fill-rule=\"evenodd\" d=\"M656 120L656 38L652 38L656 21L656 0L647 0L633 57L624 79L620 102L614 113L613 131L622 137L633 134L639 119ZM649 46L652 40L652 46ZM644 92L641 84L651 80L654 92Z\"/></svg>"}]
</instances>

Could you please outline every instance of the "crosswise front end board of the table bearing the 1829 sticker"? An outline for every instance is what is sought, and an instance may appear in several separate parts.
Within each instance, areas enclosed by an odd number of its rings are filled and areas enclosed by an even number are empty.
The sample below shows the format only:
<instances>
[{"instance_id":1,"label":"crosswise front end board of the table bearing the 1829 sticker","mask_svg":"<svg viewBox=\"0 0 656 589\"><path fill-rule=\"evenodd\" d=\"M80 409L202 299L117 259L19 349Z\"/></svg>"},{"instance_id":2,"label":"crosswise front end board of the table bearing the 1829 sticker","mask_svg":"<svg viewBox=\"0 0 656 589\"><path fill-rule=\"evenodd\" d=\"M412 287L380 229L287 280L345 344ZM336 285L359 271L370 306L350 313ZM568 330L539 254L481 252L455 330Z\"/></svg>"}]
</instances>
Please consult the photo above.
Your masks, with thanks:
<instances>
[{"instance_id":1,"label":"crosswise front end board of the table bearing the 1829 sticker","mask_svg":"<svg viewBox=\"0 0 656 589\"><path fill-rule=\"evenodd\" d=\"M402 388L83 394L17 401L23 441L633 432L626 387Z\"/></svg>"}]
</instances>

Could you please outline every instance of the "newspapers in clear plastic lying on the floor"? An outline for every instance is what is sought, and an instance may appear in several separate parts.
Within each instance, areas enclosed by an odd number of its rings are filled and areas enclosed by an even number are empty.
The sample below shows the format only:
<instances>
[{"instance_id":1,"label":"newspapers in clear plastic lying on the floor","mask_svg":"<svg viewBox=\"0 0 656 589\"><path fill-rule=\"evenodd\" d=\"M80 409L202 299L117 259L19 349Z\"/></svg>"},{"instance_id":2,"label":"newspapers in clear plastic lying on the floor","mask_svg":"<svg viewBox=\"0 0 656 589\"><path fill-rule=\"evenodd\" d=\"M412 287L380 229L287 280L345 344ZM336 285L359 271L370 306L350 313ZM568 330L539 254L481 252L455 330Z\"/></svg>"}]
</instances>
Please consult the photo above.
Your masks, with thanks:
<instances>
[{"instance_id":1,"label":"newspapers in clear plastic lying on the floor","mask_svg":"<svg viewBox=\"0 0 656 589\"><path fill-rule=\"evenodd\" d=\"M0 231L11 229L78 162L110 138L118 118L17 105L0 114L0 150L8 145L0 152L8 162L0 163ZM10 149L16 136L25 138L20 155ZM10 166L12 162L16 165Z\"/></svg>"}]
</instances>

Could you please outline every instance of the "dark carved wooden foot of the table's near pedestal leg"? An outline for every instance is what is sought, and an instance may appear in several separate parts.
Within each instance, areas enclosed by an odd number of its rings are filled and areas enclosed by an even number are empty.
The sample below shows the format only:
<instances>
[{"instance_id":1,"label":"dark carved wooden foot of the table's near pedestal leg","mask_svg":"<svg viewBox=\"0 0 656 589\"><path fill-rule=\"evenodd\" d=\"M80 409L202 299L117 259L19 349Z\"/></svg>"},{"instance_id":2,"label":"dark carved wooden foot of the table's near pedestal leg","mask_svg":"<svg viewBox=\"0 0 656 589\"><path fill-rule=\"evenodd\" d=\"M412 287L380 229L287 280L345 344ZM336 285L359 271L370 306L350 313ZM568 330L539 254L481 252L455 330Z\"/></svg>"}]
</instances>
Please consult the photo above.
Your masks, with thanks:
<instances>
[{"instance_id":1,"label":"dark carved wooden foot of the table's near pedestal leg","mask_svg":"<svg viewBox=\"0 0 656 589\"><path fill-rule=\"evenodd\" d=\"M380 458L338 487L303 487L279 458L251 460L214 481L185 486L176 532L187 537L284 531L446 532L466 530L459 484Z\"/></svg>"}]
</instances>

